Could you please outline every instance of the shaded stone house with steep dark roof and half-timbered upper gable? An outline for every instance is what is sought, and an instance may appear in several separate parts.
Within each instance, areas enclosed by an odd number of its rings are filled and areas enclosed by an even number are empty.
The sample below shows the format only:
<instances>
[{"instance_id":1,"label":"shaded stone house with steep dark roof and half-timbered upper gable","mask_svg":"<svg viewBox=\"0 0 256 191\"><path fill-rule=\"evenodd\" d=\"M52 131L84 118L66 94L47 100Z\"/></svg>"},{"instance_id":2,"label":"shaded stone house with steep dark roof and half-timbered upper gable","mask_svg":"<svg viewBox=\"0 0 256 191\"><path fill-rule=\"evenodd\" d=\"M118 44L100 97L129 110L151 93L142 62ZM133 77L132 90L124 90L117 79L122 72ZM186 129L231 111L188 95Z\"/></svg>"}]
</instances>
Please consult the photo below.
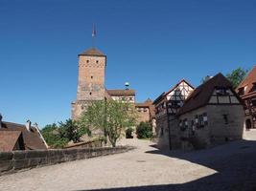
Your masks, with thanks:
<instances>
[{"instance_id":1,"label":"shaded stone house with steep dark roof and half-timbered upper gable","mask_svg":"<svg viewBox=\"0 0 256 191\"><path fill-rule=\"evenodd\" d=\"M181 148L205 148L243 138L244 105L231 83L217 74L185 100L177 120Z\"/></svg>"}]
</instances>

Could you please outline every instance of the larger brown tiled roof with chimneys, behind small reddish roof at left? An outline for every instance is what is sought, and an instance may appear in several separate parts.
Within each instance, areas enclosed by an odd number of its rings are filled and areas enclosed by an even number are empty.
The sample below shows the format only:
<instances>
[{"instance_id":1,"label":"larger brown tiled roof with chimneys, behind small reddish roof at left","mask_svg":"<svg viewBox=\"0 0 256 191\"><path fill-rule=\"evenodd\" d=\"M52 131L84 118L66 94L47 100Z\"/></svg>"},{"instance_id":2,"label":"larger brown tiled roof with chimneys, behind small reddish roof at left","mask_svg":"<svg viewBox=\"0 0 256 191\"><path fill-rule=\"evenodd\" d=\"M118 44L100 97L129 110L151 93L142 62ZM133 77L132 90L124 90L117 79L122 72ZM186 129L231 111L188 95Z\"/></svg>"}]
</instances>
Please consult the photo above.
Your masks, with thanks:
<instances>
[{"instance_id":1,"label":"larger brown tiled roof with chimneys, behind small reddish roof at left","mask_svg":"<svg viewBox=\"0 0 256 191\"><path fill-rule=\"evenodd\" d=\"M43 140L40 138L35 127L32 126L31 131L28 131L25 125L12 122L2 122L0 131L20 131L25 144L26 150L47 149Z\"/></svg>"}]
</instances>

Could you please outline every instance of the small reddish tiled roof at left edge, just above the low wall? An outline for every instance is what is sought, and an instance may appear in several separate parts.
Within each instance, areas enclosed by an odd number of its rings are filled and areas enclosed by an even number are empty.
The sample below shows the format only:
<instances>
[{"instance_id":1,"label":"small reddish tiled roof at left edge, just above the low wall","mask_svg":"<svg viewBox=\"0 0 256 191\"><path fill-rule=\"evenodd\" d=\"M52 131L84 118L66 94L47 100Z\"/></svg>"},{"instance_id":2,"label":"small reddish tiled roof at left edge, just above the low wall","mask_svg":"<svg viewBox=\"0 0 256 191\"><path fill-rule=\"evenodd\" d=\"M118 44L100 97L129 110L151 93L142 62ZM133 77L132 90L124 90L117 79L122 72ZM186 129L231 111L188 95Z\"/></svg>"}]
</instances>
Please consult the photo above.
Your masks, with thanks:
<instances>
[{"instance_id":1,"label":"small reddish tiled roof at left edge, just above the low wall","mask_svg":"<svg viewBox=\"0 0 256 191\"><path fill-rule=\"evenodd\" d=\"M9 152L14 149L21 131L0 131L0 152Z\"/></svg>"}]
</instances>

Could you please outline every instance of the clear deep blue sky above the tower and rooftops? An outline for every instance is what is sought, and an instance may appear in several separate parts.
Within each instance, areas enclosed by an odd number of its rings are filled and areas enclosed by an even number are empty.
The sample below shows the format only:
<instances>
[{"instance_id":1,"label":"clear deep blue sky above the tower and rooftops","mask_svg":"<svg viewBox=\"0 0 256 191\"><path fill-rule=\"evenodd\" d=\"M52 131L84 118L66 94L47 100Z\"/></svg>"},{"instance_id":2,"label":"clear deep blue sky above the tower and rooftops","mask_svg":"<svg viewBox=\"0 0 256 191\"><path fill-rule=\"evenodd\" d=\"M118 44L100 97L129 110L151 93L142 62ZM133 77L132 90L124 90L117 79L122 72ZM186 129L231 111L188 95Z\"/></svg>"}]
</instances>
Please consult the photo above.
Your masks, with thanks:
<instances>
[{"instance_id":1,"label":"clear deep blue sky above the tower and rooftops","mask_svg":"<svg viewBox=\"0 0 256 191\"><path fill-rule=\"evenodd\" d=\"M256 63L256 1L0 0L0 113L40 126L70 117L78 53L107 55L106 88L128 81L137 101L181 78Z\"/></svg>"}]
</instances>

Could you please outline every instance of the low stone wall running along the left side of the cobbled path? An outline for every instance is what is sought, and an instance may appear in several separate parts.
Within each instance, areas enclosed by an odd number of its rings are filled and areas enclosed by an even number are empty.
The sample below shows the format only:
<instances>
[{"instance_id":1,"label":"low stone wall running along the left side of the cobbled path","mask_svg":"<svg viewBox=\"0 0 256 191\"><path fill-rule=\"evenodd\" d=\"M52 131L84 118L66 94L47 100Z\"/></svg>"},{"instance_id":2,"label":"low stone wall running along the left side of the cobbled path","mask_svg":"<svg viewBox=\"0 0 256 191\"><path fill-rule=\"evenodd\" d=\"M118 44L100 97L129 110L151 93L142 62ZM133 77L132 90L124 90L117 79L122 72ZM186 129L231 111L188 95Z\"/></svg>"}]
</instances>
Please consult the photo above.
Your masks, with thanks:
<instances>
[{"instance_id":1,"label":"low stone wall running along the left side of the cobbled path","mask_svg":"<svg viewBox=\"0 0 256 191\"><path fill-rule=\"evenodd\" d=\"M30 169L76 159L101 157L127 152L131 149L132 147L128 146L118 146L115 148L103 147L0 152L0 176L21 169Z\"/></svg>"}]
</instances>

